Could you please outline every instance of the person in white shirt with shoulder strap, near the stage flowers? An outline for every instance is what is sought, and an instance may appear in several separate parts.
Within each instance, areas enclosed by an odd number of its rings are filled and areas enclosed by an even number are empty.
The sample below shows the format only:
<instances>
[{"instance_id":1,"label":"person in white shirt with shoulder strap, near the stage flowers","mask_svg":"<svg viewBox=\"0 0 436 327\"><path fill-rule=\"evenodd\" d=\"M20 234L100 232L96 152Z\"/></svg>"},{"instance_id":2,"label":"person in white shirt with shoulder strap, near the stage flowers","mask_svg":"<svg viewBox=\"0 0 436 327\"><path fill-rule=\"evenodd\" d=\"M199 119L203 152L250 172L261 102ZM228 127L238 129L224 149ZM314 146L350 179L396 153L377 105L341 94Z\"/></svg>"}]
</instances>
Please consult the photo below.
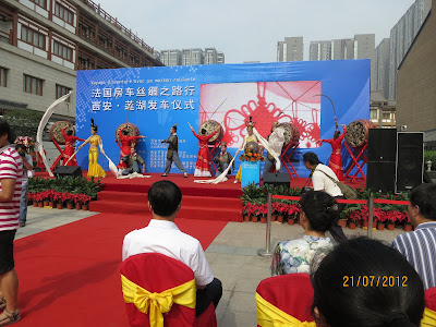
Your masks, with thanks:
<instances>
[{"instance_id":1,"label":"person in white shirt with shoulder strap, near the stage flowers","mask_svg":"<svg viewBox=\"0 0 436 327\"><path fill-rule=\"evenodd\" d=\"M339 186L331 180L339 181L336 173L328 166L323 165L318 156L314 153L306 153L303 155L304 167L311 170L310 177L312 177L312 184L314 191L324 191L330 194L336 199L346 198L340 191ZM339 214L346 207L344 204L338 204ZM338 221L334 222L329 229L330 234L334 237L335 241L338 243L347 241L347 237L343 230L338 226Z\"/></svg>"}]
</instances>

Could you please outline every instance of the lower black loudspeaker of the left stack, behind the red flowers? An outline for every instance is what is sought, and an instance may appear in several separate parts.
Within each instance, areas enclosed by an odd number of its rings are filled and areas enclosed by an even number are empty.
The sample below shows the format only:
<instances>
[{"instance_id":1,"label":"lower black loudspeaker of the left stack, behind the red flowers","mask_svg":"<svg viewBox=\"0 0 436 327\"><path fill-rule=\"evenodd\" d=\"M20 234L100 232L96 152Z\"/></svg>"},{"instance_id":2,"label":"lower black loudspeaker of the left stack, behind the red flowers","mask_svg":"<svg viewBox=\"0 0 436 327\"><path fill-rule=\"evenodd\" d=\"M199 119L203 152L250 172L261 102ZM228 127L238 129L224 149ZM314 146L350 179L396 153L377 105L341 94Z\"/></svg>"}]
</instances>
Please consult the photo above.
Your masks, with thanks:
<instances>
[{"instance_id":1,"label":"lower black loudspeaker of the left stack, behind the red flowers","mask_svg":"<svg viewBox=\"0 0 436 327\"><path fill-rule=\"evenodd\" d=\"M368 162L366 170L366 189L373 192L395 191L396 162Z\"/></svg>"}]
</instances>

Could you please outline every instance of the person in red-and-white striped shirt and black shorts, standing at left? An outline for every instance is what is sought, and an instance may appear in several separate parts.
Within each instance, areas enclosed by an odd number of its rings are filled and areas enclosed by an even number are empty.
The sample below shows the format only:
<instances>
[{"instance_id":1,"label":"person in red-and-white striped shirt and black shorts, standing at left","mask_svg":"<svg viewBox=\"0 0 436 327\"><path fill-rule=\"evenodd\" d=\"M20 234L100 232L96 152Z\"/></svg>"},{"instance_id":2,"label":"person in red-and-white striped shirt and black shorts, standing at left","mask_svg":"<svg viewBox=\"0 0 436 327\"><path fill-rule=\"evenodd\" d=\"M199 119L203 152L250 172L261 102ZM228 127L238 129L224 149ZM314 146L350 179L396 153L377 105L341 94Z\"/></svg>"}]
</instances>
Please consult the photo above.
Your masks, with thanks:
<instances>
[{"instance_id":1,"label":"person in red-and-white striped shirt and black shorts, standing at left","mask_svg":"<svg viewBox=\"0 0 436 327\"><path fill-rule=\"evenodd\" d=\"M0 118L0 326L21 319L13 241L20 226L23 160L11 143L11 126Z\"/></svg>"}]
</instances>

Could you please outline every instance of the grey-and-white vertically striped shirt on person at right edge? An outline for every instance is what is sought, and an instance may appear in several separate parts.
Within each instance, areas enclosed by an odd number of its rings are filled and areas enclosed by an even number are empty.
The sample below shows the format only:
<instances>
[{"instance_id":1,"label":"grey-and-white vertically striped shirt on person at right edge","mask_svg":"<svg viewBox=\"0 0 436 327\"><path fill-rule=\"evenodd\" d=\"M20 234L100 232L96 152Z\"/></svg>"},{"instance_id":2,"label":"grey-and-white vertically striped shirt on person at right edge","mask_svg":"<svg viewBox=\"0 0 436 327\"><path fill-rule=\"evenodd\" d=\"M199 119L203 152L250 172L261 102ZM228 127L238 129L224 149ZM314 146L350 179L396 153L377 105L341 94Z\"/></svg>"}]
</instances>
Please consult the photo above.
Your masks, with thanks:
<instances>
[{"instance_id":1,"label":"grey-and-white vertically striped shirt on person at right edge","mask_svg":"<svg viewBox=\"0 0 436 327\"><path fill-rule=\"evenodd\" d=\"M425 289L436 287L436 221L420 223L414 232L398 235L390 246L405 256Z\"/></svg>"}]
</instances>

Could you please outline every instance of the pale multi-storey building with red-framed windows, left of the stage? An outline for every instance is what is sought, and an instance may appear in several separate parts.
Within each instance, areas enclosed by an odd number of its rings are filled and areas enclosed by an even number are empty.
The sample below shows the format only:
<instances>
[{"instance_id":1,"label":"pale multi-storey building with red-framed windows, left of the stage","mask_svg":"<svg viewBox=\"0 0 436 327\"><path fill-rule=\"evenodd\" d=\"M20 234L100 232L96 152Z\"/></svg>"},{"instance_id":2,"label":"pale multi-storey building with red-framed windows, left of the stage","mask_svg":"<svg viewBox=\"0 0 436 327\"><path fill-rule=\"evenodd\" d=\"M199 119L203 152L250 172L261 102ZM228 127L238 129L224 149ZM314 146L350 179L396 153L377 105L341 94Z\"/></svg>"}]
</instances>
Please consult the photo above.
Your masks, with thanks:
<instances>
[{"instance_id":1,"label":"pale multi-storey building with red-framed windows, left of the stage","mask_svg":"<svg viewBox=\"0 0 436 327\"><path fill-rule=\"evenodd\" d=\"M75 117L76 70L162 65L146 45L89 0L0 0L0 109ZM5 108L8 107L8 108Z\"/></svg>"}]
</instances>

